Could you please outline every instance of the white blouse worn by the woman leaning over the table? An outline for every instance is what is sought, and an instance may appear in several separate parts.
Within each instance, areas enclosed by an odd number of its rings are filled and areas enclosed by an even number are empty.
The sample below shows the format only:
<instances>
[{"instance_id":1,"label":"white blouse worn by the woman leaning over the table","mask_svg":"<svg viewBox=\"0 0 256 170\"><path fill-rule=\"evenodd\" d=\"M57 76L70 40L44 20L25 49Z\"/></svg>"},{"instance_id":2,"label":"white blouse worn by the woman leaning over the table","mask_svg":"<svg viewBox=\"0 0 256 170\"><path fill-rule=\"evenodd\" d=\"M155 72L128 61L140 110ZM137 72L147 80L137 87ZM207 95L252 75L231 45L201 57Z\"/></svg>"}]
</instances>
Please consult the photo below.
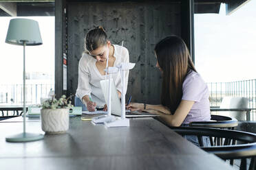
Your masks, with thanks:
<instances>
[{"instance_id":1,"label":"white blouse worn by the woman leaning over the table","mask_svg":"<svg viewBox=\"0 0 256 170\"><path fill-rule=\"evenodd\" d=\"M129 62L129 52L125 47L120 45L114 46L114 57L116 58L114 66L122 62ZM100 80L105 80L105 76L101 75L96 67L96 59L90 56L88 53L83 53L83 56L79 60L78 65L78 88L76 89L76 96L81 99L85 95L90 95L92 100L96 102L98 108L102 108L105 105L105 98L100 87ZM125 73L125 94L127 92L129 71ZM120 93L122 92L122 84L120 72L111 75L116 88Z\"/></svg>"}]
</instances>

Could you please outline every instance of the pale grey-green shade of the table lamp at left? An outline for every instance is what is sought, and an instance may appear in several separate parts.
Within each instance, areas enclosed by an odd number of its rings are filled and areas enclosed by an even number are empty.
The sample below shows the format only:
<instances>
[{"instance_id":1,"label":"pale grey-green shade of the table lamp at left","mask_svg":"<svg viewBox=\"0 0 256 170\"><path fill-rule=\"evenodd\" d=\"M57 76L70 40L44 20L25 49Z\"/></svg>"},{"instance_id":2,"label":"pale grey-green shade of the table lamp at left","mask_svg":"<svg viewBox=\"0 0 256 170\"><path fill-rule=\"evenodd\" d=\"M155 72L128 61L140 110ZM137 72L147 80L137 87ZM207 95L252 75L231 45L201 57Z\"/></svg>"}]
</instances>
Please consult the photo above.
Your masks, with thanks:
<instances>
[{"instance_id":1,"label":"pale grey-green shade of the table lamp at left","mask_svg":"<svg viewBox=\"0 0 256 170\"><path fill-rule=\"evenodd\" d=\"M42 45L39 23L32 19L11 19L6 43L12 45Z\"/></svg>"}]
</instances>

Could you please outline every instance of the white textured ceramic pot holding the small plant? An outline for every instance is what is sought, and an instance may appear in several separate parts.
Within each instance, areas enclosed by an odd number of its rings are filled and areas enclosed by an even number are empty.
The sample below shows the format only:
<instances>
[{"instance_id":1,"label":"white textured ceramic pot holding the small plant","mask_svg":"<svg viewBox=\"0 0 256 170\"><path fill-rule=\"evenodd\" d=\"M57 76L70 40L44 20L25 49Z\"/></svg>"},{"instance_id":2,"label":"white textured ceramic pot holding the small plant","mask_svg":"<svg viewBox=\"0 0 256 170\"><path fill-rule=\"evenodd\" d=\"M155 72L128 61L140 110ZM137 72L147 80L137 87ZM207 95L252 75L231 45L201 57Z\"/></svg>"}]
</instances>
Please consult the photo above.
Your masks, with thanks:
<instances>
[{"instance_id":1,"label":"white textured ceramic pot holding the small plant","mask_svg":"<svg viewBox=\"0 0 256 170\"><path fill-rule=\"evenodd\" d=\"M41 109L41 127L45 133L65 133L70 125L70 109Z\"/></svg>"}]
</instances>

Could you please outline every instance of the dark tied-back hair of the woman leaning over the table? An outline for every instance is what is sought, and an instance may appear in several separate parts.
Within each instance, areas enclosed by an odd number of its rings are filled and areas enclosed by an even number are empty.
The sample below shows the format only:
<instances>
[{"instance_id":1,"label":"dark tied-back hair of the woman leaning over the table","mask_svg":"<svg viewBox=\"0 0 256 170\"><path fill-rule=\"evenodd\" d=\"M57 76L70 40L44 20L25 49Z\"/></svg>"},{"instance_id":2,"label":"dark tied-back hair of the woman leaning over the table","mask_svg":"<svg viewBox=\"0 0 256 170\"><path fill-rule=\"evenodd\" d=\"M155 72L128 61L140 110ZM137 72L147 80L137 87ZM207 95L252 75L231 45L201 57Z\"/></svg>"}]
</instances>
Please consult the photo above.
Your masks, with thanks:
<instances>
[{"instance_id":1,"label":"dark tied-back hair of the woman leaning over the table","mask_svg":"<svg viewBox=\"0 0 256 170\"><path fill-rule=\"evenodd\" d=\"M103 27L98 26L89 30L85 37L85 50L93 51L107 44L107 34Z\"/></svg>"}]
</instances>

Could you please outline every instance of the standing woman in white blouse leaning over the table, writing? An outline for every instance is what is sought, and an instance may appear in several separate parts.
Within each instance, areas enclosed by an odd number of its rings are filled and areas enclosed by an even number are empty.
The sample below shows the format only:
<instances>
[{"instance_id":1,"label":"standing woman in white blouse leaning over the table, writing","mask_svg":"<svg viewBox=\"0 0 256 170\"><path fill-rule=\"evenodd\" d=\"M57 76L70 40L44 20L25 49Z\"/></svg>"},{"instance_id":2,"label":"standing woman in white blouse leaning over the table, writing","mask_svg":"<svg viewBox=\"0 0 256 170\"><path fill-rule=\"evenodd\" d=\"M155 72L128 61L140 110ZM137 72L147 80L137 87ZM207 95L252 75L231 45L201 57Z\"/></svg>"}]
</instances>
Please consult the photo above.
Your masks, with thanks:
<instances>
[{"instance_id":1,"label":"standing woman in white blouse leaning over the table, writing","mask_svg":"<svg viewBox=\"0 0 256 170\"><path fill-rule=\"evenodd\" d=\"M91 29L85 38L85 52L78 65L78 88L76 90L75 106L82 106L83 110L107 110L100 80L105 80L104 69L117 66L121 62L129 62L129 52L120 45L111 45L103 27ZM125 73L125 93L127 91L129 71ZM118 96L121 96L120 73L112 75Z\"/></svg>"}]
</instances>

